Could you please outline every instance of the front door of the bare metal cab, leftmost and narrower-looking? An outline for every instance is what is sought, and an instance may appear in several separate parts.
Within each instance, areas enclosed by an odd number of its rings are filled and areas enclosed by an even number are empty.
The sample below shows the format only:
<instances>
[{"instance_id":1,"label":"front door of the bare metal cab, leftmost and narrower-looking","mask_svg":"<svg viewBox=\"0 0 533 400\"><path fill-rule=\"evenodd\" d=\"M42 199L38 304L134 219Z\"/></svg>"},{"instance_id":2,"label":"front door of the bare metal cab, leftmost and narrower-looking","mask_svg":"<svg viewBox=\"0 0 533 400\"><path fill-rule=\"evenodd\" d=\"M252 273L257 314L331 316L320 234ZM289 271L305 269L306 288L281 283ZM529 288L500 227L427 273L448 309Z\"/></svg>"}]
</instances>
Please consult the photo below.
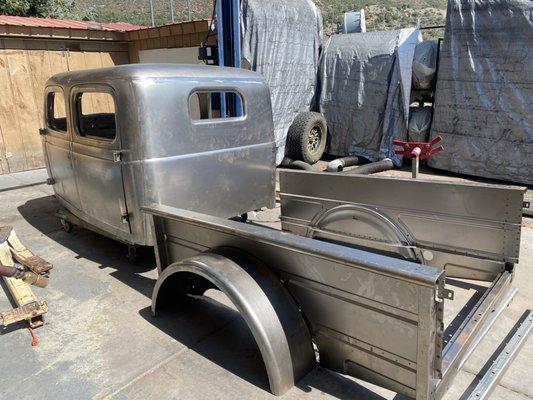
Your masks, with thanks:
<instances>
[{"instance_id":1,"label":"front door of the bare metal cab, leftmost and narrower-looking","mask_svg":"<svg viewBox=\"0 0 533 400\"><path fill-rule=\"evenodd\" d=\"M45 91L44 152L55 194L71 206L80 207L80 198L71 160L72 133L67 118L65 95L60 87Z\"/></svg>"}]
</instances>

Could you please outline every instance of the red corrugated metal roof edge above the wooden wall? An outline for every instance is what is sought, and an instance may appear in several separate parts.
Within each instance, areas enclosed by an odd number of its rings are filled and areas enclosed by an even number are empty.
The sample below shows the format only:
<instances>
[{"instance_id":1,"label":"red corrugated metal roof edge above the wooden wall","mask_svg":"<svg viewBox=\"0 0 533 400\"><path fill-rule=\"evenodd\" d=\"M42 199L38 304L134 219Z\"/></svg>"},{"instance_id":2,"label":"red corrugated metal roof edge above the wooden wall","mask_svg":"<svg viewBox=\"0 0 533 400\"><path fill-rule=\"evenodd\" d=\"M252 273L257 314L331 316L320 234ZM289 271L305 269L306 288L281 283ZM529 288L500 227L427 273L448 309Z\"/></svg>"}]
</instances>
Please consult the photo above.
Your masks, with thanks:
<instances>
[{"instance_id":1,"label":"red corrugated metal roof edge above the wooden wall","mask_svg":"<svg viewBox=\"0 0 533 400\"><path fill-rule=\"evenodd\" d=\"M96 31L127 32L146 28L122 22L74 21L71 19L48 19L0 15L0 25L27 26L40 28L89 29Z\"/></svg>"}]
</instances>

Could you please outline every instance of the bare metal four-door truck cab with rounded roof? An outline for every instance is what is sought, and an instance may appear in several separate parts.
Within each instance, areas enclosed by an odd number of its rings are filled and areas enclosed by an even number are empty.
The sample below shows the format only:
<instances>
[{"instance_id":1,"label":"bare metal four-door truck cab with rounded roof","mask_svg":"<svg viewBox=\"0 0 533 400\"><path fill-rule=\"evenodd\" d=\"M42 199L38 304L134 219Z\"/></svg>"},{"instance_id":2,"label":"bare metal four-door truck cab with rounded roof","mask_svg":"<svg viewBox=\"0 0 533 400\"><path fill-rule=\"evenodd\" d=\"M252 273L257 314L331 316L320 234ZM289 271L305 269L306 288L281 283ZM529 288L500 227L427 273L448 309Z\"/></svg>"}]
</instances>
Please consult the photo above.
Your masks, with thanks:
<instances>
[{"instance_id":1,"label":"bare metal four-door truck cab with rounded roof","mask_svg":"<svg viewBox=\"0 0 533 400\"><path fill-rule=\"evenodd\" d=\"M151 245L141 205L234 217L274 204L271 105L255 73L175 64L63 73L46 85L45 114L64 223Z\"/></svg>"}]
</instances>

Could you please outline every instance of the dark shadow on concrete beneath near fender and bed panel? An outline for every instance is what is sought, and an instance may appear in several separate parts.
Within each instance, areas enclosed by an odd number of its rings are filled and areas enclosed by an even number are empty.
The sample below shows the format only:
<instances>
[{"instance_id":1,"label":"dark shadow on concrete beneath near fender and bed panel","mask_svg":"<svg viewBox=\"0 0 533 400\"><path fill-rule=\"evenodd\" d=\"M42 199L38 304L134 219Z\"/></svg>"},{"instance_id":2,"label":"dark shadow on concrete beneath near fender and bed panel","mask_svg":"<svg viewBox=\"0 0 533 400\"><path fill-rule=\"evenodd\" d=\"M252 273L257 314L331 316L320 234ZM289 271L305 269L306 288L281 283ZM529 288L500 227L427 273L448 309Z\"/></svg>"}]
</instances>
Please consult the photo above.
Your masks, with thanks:
<instances>
[{"instance_id":1,"label":"dark shadow on concrete beneath near fender and bed panel","mask_svg":"<svg viewBox=\"0 0 533 400\"><path fill-rule=\"evenodd\" d=\"M217 296L218 297L218 296ZM229 300L228 300L229 301ZM190 350L247 382L270 392L267 372L255 339L240 314L207 296L181 297L153 317L150 308L140 315ZM176 321L186 320L186 329ZM215 333L201 337L205 326ZM337 399L385 400L352 379L317 366L296 385L304 392L320 391ZM274 397L273 397L274 398ZM405 399L396 396L395 400Z\"/></svg>"}]
</instances>

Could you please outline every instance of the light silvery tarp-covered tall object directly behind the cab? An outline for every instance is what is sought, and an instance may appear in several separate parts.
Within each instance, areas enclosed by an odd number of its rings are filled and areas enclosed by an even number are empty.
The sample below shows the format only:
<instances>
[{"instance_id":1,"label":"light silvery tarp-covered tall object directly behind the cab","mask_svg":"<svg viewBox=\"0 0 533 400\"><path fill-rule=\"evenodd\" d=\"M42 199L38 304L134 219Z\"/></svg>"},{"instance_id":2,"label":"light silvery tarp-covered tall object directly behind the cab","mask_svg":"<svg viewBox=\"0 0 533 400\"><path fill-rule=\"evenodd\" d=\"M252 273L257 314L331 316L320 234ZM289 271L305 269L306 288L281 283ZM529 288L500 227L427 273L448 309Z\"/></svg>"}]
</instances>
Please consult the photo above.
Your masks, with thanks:
<instances>
[{"instance_id":1,"label":"light silvery tarp-covered tall object directly behind the cab","mask_svg":"<svg viewBox=\"0 0 533 400\"><path fill-rule=\"evenodd\" d=\"M287 131L315 96L322 16L311 0L242 0L243 65L270 87L276 161L285 155Z\"/></svg>"}]
</instances>

